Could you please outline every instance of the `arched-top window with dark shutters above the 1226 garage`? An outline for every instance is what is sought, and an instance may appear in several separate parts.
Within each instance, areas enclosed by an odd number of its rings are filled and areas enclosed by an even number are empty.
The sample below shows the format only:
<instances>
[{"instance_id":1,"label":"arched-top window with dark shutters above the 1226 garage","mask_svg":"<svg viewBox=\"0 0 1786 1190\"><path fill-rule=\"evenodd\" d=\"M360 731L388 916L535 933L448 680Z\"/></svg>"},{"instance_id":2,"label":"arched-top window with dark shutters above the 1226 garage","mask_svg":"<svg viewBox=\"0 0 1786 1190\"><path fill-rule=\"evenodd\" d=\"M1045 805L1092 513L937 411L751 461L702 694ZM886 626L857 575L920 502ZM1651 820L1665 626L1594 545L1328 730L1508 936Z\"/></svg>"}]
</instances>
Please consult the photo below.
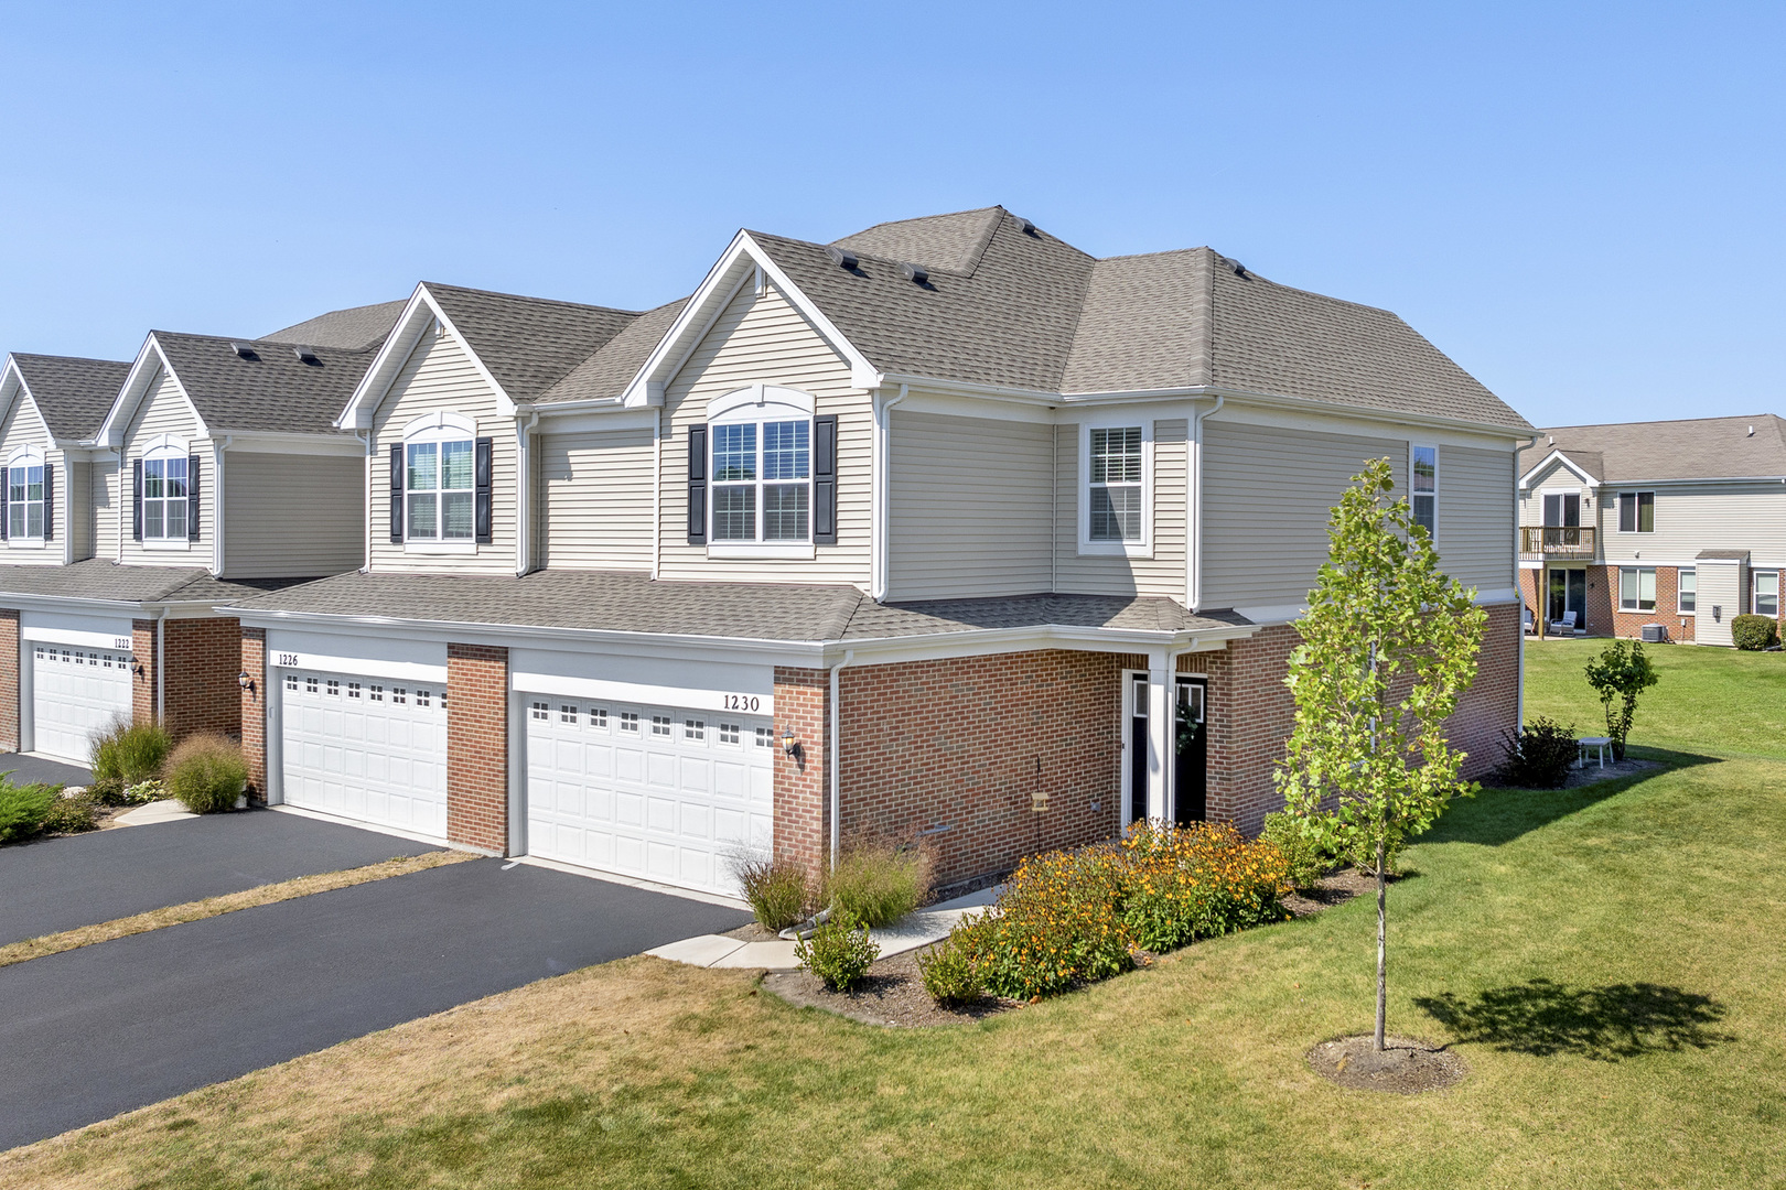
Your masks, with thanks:
<instances>
[{"instance_id":1,"label":"arched-top window with dark shutters above the 1226 garage","mask_svg":"<svg viewBox=\"0 0 1786 1190\"><path fill-rule=\"evenodd\" d=\"M477 423L434 412L391 444L391 541L421 550L489 542L491 439Z\"/></svg>"}]
</instances>

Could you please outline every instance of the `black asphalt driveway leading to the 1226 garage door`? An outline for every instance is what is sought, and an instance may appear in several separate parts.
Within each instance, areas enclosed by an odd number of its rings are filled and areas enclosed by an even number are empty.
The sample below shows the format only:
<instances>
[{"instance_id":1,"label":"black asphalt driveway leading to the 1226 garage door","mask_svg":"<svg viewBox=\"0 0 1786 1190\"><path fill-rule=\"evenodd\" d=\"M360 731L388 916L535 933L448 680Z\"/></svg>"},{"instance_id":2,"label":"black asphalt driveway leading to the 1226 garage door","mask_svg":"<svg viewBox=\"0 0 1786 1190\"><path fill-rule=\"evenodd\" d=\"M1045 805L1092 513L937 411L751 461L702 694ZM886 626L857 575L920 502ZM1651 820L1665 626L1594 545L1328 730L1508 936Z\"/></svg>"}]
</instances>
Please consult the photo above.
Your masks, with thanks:
<instances>
[{"instance_id":1,"label":"black asphalt driveway leading to the 1226 garage door","mask_svg":"<svg viewBox=\"0 0 1786 1190\"><path fill-rule=\"evenodd\" d=\"M273 810L116 826L0 847L0 946L438 849Z\"/></svg>"}]
</instances>

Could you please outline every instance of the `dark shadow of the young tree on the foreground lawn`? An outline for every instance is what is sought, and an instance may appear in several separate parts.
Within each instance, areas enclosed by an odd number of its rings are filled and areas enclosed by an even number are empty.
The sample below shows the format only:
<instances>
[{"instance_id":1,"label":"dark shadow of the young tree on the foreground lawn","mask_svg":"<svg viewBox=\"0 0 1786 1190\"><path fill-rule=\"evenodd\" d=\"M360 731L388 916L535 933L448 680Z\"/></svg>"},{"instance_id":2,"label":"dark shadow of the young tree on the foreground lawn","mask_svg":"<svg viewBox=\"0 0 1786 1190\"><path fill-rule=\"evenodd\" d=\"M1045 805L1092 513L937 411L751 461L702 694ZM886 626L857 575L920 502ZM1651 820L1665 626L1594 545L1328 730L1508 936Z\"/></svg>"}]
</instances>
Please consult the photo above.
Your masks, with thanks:
<instances>
[{"instance_id":1,"label":"dark shadow of the young tree on the foreground lawn","mask_svg":"<svg viewBox=\"0 0 1786 1190\"><path fill-rule=\"evenodd\" d=\"M1457 1042L1482 1042L1538 1058L1575 1054L1618 1062L1736 1040L1713 1028L1723 1021L1723 1004L1659 983L1572 988L1529 979L1479 992L1473 999L1454 992L1422 996L1415 1006L1448 1028Z\"/></svg>"}]
</instances>

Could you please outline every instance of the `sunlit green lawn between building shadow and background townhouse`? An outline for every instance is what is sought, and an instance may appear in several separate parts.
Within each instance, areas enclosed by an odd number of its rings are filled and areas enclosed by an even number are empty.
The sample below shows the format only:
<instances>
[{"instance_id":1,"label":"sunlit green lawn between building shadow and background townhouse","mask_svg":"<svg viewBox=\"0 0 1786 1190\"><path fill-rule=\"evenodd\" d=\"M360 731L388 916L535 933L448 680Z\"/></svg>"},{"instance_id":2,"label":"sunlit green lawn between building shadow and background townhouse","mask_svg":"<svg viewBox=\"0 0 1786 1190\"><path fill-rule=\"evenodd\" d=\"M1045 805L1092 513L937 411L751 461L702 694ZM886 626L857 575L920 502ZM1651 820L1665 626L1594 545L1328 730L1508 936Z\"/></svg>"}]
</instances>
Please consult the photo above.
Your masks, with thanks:
<instances>
[{"instance_id":1,"label":"sunlit green lawn between building shadow and background townhouse","mask_svg":"<svg viewBox=\"0 0 1786 1190\"><path fill-rule=\"evenodd\" d=\"M1588 685L1588 662L1609 640L1527 640L1525 719L1573 723L1604 735L1606 712ZM1697 644L1648 644L1661 676L1638 699L1632 744L1715 756L1786 758L1786 653Z\"/></svg>"}]
</instances>

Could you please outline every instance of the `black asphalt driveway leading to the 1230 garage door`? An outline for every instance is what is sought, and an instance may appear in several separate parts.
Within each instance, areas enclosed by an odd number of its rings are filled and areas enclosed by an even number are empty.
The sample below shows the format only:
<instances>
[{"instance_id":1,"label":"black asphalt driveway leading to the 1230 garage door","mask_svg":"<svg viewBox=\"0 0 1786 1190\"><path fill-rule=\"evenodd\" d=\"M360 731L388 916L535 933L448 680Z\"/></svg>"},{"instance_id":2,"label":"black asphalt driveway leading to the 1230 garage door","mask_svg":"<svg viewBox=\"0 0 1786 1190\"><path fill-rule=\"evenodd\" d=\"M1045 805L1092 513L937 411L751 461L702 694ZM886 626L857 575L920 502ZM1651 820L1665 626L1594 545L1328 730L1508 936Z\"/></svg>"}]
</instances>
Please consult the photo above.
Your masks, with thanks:
<instances>
[{"instance_id":1,"label":"black asphalt driveway leading to the 1230 garage door","mask_svg":"<svg viewBox=\"0 0 1786 1190\"><path fill-rule=\"evenodd\" d=\"M0 967L0 1149L745 921L475 860Z\"/></svg>"}]
</instances>

